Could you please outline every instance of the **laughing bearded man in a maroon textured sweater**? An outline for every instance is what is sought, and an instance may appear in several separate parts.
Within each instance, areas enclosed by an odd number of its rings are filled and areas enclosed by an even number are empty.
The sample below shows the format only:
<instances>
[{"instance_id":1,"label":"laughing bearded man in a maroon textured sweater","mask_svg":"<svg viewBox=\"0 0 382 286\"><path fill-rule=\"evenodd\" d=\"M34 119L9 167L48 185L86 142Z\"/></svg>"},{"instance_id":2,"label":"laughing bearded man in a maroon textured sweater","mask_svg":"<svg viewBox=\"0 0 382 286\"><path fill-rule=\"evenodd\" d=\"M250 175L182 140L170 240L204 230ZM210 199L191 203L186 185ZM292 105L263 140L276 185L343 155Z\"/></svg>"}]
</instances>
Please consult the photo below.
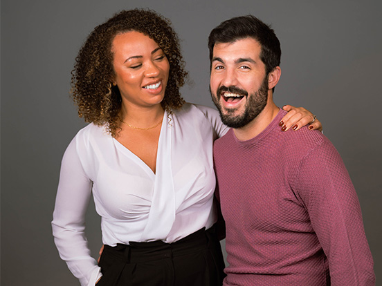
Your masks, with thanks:
<instances>
[{"instance_id":1,"label":"laughing bearded man in a maroon textured sweater","mask_svg":"<svg viewBox=\"0 0 382 286\"><path fill-rule=\"evenodd\" d=\"M334 146L282 132L280 42L259 19L210 33L212 99L232 127L215 142L229 266L224 285L374 285L361 208Z\"/></svg>"}]
</instances>

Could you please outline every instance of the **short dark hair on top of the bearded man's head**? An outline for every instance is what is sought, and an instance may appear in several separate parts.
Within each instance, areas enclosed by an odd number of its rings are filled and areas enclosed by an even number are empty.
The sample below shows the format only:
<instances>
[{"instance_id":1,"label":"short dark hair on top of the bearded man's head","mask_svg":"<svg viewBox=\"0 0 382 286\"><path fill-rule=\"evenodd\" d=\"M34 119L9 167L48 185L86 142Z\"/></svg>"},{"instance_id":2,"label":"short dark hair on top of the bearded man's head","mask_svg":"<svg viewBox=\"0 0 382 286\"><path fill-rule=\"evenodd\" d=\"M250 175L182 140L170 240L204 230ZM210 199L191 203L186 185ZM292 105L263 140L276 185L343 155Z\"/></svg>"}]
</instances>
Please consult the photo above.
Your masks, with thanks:
<instances>
[{"instance_id":1,"label":"short dark hair on top of the bearded man's head","mask_svg":"<svg viewBox=\"0 0 382 286\"><path fill-rule=\"evenodd\" d=\"M253 38L261 45L260 59L265 64L266 75L276 66L280 66L280 41L271 26L266 25L252 15L235 17L220 23L210 32L208 49L212 61L215 44L234 43L239 39Z\"/></svg>"}]
</instances>

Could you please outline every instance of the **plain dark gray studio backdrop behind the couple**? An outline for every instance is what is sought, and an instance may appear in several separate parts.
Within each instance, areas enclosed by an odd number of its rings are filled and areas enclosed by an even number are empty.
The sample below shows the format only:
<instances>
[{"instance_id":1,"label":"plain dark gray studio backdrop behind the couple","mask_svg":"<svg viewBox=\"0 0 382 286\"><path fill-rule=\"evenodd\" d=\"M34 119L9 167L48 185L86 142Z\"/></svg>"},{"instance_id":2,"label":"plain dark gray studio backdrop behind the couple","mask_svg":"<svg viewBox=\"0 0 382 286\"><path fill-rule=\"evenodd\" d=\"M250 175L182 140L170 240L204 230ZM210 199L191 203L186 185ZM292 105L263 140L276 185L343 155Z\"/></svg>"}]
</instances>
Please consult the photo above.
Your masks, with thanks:
<instances>
[{"instance_id":1,"label":"plain dark gray studio backdrop behind the couple","mask_svg":"<svg viewBox=\"0 0 382 286\"><path fill-rule=\"evenodd\" d=\"M272 24L283 53L275 101L316 113L342 155L381 285L382 1L193 2L1 1L1 285L79 284L57 254L50 224L62 154L84 126L69 99L70 71L96 25L135 7L172 20L194 81L183 95L208 106L210 30L248 13ZM92 206L88 216L97 256L100 219Z\"/></svg>"}]
</instances>

